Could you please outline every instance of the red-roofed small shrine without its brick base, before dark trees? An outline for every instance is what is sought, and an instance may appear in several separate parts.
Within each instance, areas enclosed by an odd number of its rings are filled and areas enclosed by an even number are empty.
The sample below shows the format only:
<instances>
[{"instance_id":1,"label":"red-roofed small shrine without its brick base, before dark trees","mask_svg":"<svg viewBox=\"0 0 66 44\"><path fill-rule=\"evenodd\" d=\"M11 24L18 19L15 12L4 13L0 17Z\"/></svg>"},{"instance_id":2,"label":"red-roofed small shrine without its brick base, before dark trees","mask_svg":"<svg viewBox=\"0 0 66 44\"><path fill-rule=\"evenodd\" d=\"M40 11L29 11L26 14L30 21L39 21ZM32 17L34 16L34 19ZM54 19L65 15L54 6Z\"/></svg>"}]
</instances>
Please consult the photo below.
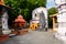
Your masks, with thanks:
<instances>
[{"instance_id":1,"label":"red-roofed small shrine without its brick base, before dark trees","mask_svg":"<svg viewBox=\"0 0 66 44\"><path fill-rule=\"evenodd\" d=\"M22 29L22 26L25 25L26 21L23 19L23 16L20 14L15 20L14 20L14 23L15 23L15 28L18 29Z\"/></svg>"}]
</instances>

